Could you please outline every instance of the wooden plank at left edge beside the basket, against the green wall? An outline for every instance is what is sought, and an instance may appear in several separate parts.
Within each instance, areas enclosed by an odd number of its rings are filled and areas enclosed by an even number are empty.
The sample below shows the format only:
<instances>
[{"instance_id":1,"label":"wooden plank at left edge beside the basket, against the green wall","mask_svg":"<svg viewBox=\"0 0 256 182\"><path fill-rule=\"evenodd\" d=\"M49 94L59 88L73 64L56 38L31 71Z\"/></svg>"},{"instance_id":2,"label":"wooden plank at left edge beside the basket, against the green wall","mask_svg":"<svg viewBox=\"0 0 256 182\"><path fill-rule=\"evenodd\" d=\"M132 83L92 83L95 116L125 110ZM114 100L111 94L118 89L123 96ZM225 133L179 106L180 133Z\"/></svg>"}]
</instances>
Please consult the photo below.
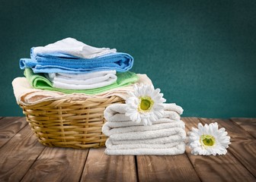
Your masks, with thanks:
<instances>
[{"instance_id":1,"label":"wooden plank at left edge beside the basket, against the green wall","mask_svg":"<svg viewBox=\"0 0 256 182\"><path fill-rule=\"evenodd\" d=\"M0 119L0 148L27 125L24 117L5 117Z\"/></svg>"}]
</instances>

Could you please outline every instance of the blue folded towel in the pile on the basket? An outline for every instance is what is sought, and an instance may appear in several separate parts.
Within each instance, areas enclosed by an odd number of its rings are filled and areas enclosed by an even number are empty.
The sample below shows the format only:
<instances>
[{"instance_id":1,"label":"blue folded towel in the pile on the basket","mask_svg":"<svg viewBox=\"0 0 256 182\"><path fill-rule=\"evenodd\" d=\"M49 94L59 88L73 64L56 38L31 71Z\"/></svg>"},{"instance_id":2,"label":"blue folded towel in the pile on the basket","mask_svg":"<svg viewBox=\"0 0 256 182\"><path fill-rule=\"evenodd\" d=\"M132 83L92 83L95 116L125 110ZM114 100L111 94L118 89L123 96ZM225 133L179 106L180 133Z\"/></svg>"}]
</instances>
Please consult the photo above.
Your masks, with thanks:
<instances>
[{"instance_id":1,"label":"blue folded towel in the pile on the basket","mask_svg":"<svg viewBox=\"0 0 256 182\"><path fill-rule=\"evenodd\" d=\"M69 52L34 53L34 49L31 49L31 58L21 58L21 69L30 67L34 73L78 74L105 70L124 72L133 67L133 57L123 52L80 58Z\"/></svg>"}]
</instances>

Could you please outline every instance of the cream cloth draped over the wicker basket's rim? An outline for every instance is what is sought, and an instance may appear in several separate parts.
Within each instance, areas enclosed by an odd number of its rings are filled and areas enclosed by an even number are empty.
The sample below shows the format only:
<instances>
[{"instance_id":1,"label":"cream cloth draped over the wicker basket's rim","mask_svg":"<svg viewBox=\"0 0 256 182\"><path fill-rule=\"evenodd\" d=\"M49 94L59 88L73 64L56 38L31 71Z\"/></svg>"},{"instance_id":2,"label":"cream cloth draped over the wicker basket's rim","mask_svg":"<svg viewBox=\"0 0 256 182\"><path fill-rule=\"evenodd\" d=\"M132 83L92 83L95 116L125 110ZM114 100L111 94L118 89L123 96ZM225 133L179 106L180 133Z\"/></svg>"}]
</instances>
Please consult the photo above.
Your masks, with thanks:
<instances>
[{"instance_id":1,"label":"cream cloth draped over the wicker basket's rim","mask_svg":"<svg viewBox=\"0 0 256 182\"><path fill-rule=\"evenodd\" d=\"M137 74L137 77L139 78L138 82L133 84L152 84L152 81L146 76L146 74ZM103 93L98 93L95 95L88 95L85 93L66 94L57 91L34 89L32 86L30 86L30 83L25 77L17 77L12 81L16 101L18 104L22 105L34 105L44 101L67 98L85 100L88 98L107 98L109 96L119 96L126 99L128 96L127 92L133 91L133 84L130 86L122 86L106 90Z\"/></svg>"}]
</instances>

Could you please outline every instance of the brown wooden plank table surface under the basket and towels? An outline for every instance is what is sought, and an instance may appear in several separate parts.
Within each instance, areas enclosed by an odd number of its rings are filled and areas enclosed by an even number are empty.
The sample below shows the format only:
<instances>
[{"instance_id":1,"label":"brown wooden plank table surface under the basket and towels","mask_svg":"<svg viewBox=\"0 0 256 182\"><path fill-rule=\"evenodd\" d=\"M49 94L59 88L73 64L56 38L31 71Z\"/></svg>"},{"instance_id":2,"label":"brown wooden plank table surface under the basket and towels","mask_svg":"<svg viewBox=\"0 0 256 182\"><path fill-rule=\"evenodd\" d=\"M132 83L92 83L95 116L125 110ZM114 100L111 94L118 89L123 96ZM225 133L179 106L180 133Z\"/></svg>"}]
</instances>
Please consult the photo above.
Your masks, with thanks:
<instances>
[{"instance_id":1,"label":"brown wooden plank table surface under the basket and towels","mask_svg":"<svg viewBox=\"0 0 256 182\"><path fill-rule=\"evenodd\" d=\"M0 181L256 181L256 118L182 118L186 131L217 122L226 155L105 155L101 149L43 146L24 117L0 118Z\"/></svg>"}]
</instances>

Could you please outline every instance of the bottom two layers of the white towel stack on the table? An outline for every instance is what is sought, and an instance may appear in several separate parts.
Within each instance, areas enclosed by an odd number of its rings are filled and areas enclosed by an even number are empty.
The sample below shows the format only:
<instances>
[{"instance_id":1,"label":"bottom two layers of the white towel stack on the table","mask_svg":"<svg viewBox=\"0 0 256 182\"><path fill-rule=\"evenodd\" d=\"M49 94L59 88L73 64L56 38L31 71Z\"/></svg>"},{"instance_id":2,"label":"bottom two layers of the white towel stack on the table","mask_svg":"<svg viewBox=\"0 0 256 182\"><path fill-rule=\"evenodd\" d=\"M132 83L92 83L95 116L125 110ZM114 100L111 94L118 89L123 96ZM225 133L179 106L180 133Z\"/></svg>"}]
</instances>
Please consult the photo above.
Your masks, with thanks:
<instances>
[{"instance_id":1,"label":"bottom two layers of the white towel stack on the table","mask_svg":"<svg viewBox=\"0 0 256 182\"><path fill-rule=\"evenodd\" d=\"M185 138L185 130L181 127L114 133L106 141L105 153L107 155L178 155L185 151Z\"/></svg>"}]
</instances>

